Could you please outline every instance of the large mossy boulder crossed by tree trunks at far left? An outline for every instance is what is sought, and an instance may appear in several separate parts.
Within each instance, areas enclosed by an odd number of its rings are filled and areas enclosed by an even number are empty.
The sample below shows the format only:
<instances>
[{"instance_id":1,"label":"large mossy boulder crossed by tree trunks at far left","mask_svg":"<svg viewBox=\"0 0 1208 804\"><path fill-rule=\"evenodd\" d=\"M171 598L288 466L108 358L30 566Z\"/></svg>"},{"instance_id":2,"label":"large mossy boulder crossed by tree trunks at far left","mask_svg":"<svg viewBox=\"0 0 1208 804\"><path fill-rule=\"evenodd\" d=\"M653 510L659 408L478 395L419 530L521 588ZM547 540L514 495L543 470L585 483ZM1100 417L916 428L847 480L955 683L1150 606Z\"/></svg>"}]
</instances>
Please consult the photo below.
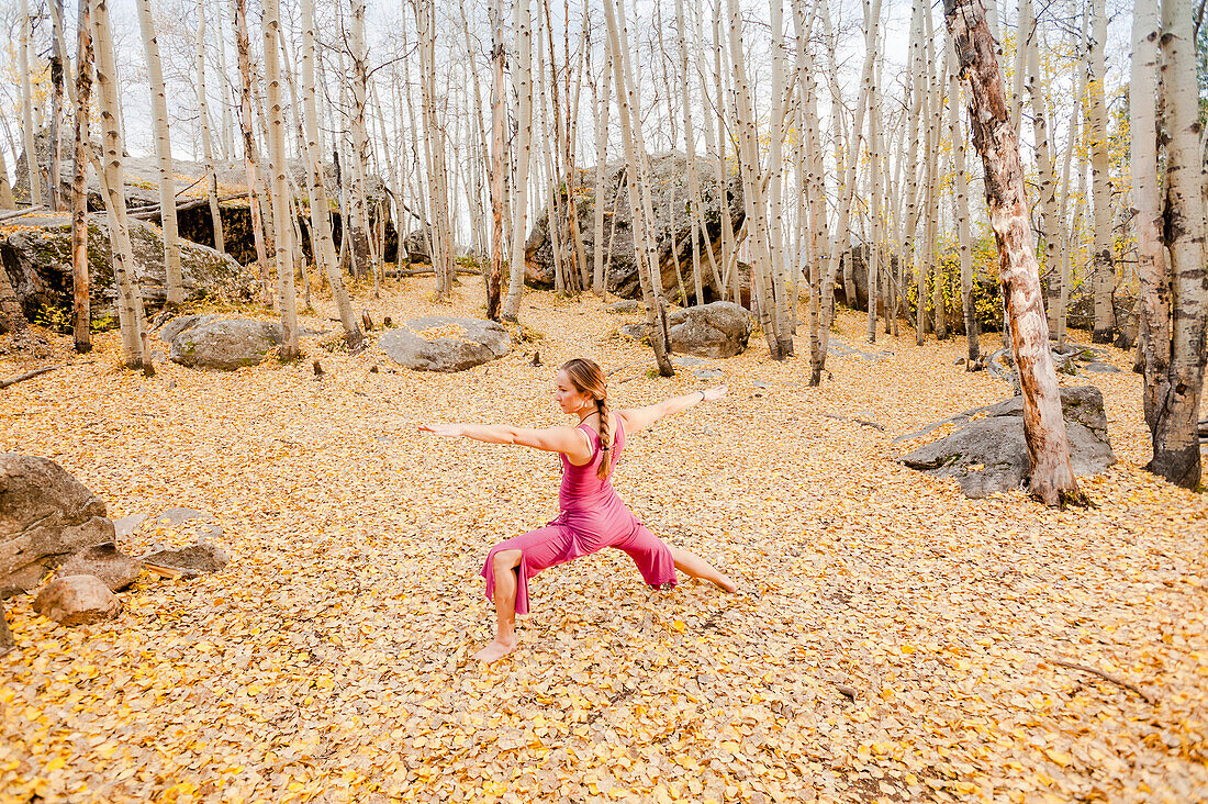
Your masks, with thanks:
<instances>
[{"instance_id":1,"label":"large mossy boulder crossed by tree trunks at far left","mask_svg":"<svg viewBox=\"0 0 1208 804\"><path fill-rule=\"evenodd\" d=\"M167 300L163 232L130 219L134 280L144 303ZM71 218L68 213L34 213L0 226L0 262L8 274L25 318L70 331ZM180 241L181 283L186 300L216 297L251 301L259 283L230 256L190 241ZM88 271L92 320L117 322L117 285L109 249L109 222L103 214L88 218Z\"/></svg>"}]
</instances>

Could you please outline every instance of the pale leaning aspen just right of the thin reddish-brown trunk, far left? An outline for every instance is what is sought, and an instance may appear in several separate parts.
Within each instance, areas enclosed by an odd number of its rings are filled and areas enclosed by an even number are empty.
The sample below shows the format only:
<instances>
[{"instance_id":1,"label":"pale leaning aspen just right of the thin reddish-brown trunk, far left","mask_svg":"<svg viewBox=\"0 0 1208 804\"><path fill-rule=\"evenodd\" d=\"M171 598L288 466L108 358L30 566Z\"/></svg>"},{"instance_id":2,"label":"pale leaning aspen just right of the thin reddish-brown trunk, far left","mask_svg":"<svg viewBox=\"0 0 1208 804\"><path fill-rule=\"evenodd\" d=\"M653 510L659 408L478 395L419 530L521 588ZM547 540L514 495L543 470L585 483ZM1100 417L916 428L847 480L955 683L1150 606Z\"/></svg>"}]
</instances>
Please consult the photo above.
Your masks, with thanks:
<instances>
[{"instance_id":1,"label":"pale leaning aspen just right of the thin reddish-brown trunk, far left","mask_svg":"<svg viewBox=\"0 0 1208 804\"><path fill-rule=\"evenodd\" d=\"M95 47L98 105L103 137L101 183L109 216L109 243L114 280L117 285L117 319L122 334L122 363L155 374L151 347L143 313L143 294L134 276L134 256L126 219L126 189L122 183L122 135L117 122L117 81L114 71L114 39L109 24L109 0L94 0L91 17Z\"/></svg>"}]
</instances>

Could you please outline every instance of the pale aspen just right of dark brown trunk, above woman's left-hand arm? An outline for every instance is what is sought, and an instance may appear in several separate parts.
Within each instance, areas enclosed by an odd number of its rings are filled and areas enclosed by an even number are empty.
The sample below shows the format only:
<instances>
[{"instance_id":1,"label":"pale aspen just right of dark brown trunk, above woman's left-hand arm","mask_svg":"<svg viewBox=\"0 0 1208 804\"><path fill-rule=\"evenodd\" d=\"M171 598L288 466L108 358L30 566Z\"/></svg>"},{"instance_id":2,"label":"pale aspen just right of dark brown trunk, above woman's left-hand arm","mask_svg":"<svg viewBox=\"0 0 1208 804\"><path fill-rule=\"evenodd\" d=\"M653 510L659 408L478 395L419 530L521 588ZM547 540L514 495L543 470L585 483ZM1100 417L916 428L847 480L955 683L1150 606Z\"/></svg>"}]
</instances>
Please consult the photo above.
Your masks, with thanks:
<instances>
[{"instance_id":1,"label":"pale aspen just right of dark brown trunk, above woman's left-hand arm","mask_svg":"<svg viewBox=\"0 0 1208 804\"><path fill-rule=\"evenodd\" d=\"M605 0L605 8L611 0ZM533 22L529 0L516 0L515 8L516 50L519 65L516 74L516 184L512 190L512 256L509 265L507 297L504 300L503 317L517 320L521 308L521 291L524 289L524 233L528 231L528 181L533 161Z\"/></svg>"}]
</instances>

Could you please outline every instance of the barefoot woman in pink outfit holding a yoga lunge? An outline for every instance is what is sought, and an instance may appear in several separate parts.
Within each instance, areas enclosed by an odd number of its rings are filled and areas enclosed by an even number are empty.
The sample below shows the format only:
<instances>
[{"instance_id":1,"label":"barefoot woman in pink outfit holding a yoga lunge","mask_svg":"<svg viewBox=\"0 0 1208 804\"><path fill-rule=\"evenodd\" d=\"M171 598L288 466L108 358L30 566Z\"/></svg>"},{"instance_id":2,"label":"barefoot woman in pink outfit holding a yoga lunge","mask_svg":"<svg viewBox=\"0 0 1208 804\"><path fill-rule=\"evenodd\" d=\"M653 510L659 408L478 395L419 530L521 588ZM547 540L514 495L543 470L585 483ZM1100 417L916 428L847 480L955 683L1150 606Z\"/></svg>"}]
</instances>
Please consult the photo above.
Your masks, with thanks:
<instances>
[{"instance_id":1,"label":"barefoot woman in pink outfit holding a yoga lunge","mask_svg":"<svg viewBox=\"0 0 1208 804\"><path fill-rule=\"evenodd\" d=\"M672 397L657 405L609 410L608 382L593 360L575 358L557 374L554 398L577 427L529 429L509 424L424 424L436 435L464 435L487 444L518 444L558 452L562 457L562 513L536 531L501 542L487 555L482 575L487 597L495 603L495 638L474 655L495 661L516 648L516 615L529 611L528 580L554 565L603 548L625 550L652 586L674 586L675 569L712 580L726 591L734 583L704 559L660 540L626 508L610 482L625 439L672 413L708 399L719 399L725 386Z\"/></svg>"}]
</instances>

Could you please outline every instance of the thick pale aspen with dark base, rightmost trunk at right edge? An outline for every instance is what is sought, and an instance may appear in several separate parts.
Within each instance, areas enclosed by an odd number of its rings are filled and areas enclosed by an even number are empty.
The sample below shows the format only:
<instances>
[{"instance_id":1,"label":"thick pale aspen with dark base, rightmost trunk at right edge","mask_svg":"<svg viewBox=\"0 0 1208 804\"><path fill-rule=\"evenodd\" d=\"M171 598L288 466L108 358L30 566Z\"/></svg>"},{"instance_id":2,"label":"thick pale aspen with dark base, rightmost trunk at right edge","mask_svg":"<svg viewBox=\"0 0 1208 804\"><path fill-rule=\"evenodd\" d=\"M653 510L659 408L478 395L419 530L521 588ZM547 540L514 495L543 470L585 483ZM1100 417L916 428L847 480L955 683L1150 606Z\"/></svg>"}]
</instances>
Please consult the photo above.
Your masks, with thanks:
<instances>
[{"instance_id":1,"label":"thick pale aspen with dark base, rightmost trunk at right edge","mask_svg":"<svg viewBox=\"0 0 1208 804\"><path fill-rule=\"evenodd\" d=\"M1191 0L1162 2L1161 100L1166 116L1166 245L1171 255L1171 365L1157 400L1148 469L1184 488L1202 478L1197 422L1208 329L1204 265L1203 143L1196 87ZM1146 411L1148 412L1148 411Z\"/></svg>"}]
</instances>

